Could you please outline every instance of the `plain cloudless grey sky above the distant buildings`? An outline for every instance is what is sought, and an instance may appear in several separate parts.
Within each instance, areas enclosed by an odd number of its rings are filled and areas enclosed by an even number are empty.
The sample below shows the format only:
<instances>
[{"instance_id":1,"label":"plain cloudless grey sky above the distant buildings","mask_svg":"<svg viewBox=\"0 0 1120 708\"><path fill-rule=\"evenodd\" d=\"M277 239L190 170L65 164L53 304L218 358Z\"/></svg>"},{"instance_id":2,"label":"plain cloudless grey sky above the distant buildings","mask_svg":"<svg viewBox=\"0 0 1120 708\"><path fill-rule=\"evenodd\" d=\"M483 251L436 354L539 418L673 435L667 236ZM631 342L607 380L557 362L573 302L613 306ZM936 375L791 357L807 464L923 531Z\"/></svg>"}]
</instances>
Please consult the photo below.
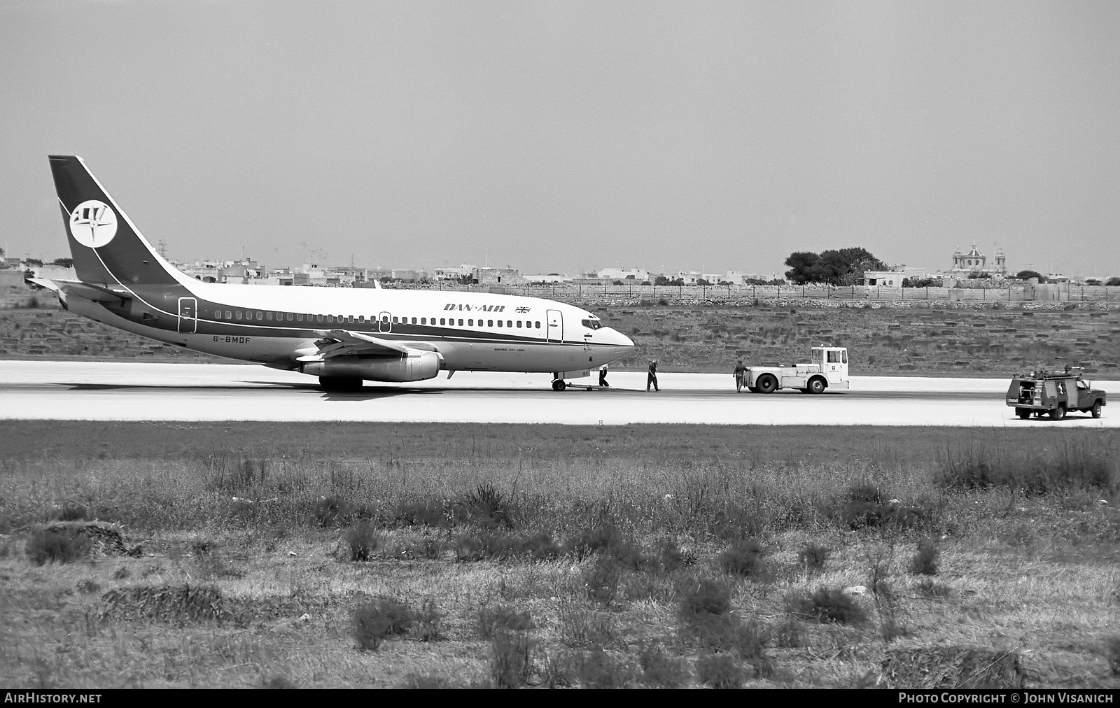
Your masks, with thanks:
<instances>
[{"instance_id":1,"label":"plain cloudless grey sky above the distant buildings","mask_svg":"<svg viewBox=\"0 0 1120 708\"><path fill-rule=\"evenodd\" d=\"M0 246L48 153L169 258L1120 274L1120 3L0 0Z\"/></svg>"}]
</instances>

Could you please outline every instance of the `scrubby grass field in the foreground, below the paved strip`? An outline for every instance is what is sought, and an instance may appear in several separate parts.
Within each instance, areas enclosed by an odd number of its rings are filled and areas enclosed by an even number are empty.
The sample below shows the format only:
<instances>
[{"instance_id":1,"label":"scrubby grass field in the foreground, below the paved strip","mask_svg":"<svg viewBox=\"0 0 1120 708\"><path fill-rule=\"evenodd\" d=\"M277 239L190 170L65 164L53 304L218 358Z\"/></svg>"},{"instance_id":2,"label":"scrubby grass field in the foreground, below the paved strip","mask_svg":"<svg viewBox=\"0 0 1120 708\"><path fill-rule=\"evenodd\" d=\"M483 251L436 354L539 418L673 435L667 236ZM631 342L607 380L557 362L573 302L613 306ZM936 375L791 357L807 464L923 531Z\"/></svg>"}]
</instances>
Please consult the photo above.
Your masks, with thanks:
<instances>
[{"instance_id":1,"label":"scrubby grass field in the foreground, below the paved strip","mask_svg":"<svg viewBox=\"0 0 1120 708\"><path fill-rule=\"evenodd\" d=\"M1105 431L0 440L4 687L1120 688Z\"/></svg>"}]
</instances>

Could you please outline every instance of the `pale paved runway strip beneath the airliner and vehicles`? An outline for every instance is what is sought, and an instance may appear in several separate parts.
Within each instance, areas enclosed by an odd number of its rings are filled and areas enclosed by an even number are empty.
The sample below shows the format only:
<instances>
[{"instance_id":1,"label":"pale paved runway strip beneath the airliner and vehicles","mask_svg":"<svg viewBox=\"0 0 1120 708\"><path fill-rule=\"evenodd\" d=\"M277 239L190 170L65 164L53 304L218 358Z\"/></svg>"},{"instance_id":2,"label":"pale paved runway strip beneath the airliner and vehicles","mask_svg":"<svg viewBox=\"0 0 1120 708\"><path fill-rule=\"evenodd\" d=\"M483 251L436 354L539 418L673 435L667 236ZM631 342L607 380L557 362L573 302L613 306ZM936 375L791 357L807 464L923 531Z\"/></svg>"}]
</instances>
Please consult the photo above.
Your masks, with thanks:
<instances>
[{"instance_id":1,"label":"pale paved runway strip beneath the airliner and vehicles","mask_svg":"<svg viewBox=\"0 0 1120 708\"><path fill-rule=\"evenodd\" d=\"M615 371L609 390L556 392L547 374L459 372L327 393L311 376L253 365L0 361L0 418L1120 427L1112 407L1098 420L1019 420L1004 403L1007 379L852 376L850 390L821 395L736 393L729 373L663 373L660 381L661 392L647 393L645 373ZM1120 382L1094 386L1120 397Z\"/></svg>"}]
</instances>

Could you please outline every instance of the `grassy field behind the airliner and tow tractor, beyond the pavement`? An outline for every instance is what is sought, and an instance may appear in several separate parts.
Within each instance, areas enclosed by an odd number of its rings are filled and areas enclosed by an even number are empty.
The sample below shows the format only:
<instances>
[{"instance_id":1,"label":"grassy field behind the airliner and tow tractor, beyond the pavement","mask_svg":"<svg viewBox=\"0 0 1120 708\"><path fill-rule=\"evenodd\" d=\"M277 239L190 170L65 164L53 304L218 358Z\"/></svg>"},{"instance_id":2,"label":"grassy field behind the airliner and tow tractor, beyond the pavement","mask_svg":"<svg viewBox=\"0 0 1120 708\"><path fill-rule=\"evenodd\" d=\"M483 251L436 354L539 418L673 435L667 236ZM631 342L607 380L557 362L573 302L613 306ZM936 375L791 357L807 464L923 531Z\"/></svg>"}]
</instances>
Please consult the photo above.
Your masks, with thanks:
<instances>
[{"instance_id":1,"label":"grassy field behind the airliner and tow tractor, beyond the pavement","mask_svg":"<svg viewBox=\"0 0 1120 708\"><path fill-rule=\"evenodd\" d=\"M1104 309L1116 302L1052 310L1008 309L999 302L968 304L967 309L948 302L818 309L775 302L577 304L634 338L637 346L620 370L643 370L656 358L662 371L729 372L737 358L748 364L806 361L809 347L832 343L851 350L856 375L1010 376L1036 364L1071 364L1092 376L1120 376L1120 310ZM72 315L52 294L22 287L0 294L0 358L228 361Z\"/></svg>"}]
</instances>

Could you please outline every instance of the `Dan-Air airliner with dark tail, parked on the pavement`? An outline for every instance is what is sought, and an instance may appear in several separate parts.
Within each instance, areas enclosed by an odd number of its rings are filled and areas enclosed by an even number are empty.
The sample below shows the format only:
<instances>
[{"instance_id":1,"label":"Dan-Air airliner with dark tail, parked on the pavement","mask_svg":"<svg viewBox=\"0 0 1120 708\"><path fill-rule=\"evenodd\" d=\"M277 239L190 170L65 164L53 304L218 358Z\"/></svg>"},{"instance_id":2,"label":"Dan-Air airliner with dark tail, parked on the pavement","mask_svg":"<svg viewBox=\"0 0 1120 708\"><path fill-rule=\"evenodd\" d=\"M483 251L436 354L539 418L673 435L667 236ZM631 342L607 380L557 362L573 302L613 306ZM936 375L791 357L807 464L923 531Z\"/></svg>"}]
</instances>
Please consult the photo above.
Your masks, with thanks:
<instances>
[{"instance_id":1,"label":"Dan-Air airliner with dark tail, parked on the pavement","mask_svg":"<svg viewBox=\"0 0 1120 708\"><path fill-rule=\"evenodd\" d=\"M549 373L562 391L634 347L594 314L541 298L203 282L151 248L82 158L49 160L77 280L31 280L125 332L318 376L333 391L441 371Z\"/></svg>"}]
</instances>

